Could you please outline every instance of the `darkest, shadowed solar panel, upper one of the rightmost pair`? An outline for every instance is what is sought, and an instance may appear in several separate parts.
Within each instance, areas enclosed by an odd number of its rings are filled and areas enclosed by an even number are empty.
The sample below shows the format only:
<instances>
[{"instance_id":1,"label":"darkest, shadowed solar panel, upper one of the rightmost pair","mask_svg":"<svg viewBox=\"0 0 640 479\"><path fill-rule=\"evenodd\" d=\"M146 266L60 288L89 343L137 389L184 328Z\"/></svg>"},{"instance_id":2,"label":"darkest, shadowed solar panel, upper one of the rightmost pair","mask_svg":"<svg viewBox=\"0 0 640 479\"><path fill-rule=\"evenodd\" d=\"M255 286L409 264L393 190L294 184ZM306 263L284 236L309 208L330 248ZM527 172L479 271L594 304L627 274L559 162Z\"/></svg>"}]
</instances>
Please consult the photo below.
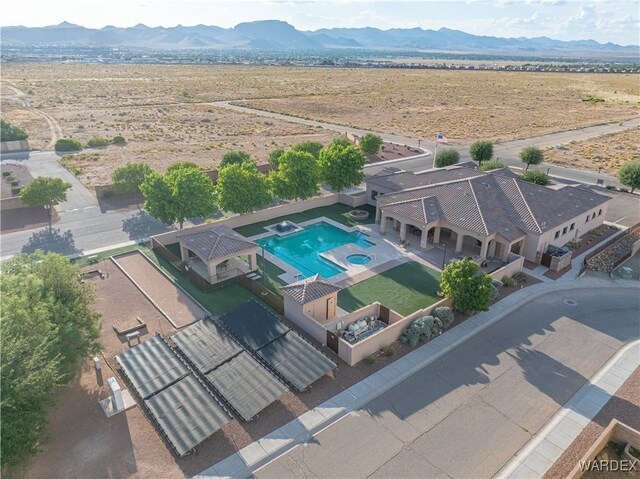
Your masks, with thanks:
<instances>
[{"instance_id":1,"label":"darkest, shadowed solar panel, upper one of the rightmost pair","mask_svg":"<svg viewBox=\"0 0 640 479\"><path fill-rule=\"evenodd\" d=\"M289 331L271 311L253 300L220 319L249 347L256 350Z\"/></svg>"}]
</instances>

